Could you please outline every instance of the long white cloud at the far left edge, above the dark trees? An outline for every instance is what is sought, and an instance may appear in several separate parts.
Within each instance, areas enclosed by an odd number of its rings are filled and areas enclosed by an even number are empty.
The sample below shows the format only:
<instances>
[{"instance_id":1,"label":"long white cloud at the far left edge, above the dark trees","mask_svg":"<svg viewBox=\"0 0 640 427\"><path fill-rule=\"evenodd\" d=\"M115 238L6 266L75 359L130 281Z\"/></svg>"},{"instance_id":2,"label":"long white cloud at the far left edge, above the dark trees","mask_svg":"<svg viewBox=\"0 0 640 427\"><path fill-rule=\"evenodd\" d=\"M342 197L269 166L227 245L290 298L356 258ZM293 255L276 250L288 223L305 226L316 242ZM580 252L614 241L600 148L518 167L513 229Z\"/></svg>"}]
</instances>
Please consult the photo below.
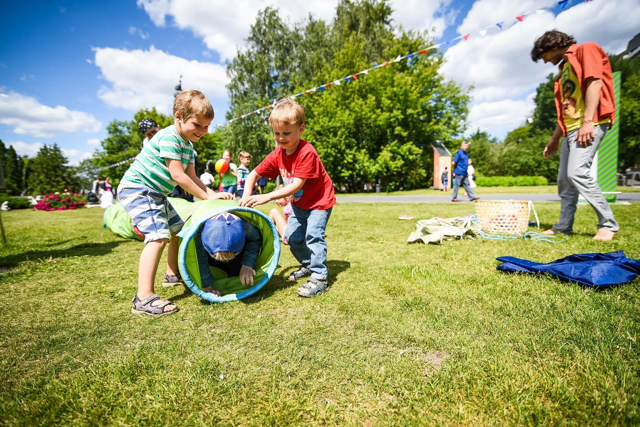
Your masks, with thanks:
<instances>
[{"instance_id":1,"label":"long white cloud at the far left edge, above the dark trees","mask_svg":"<svg viewBox=\"0 0 640 427\"><path fill-rule=\"evenodd\" d=\"M17 92L0 93L0 123L13 132L37 138L51 138L61 133L97 132L102 124L92 114L64 106L49 107Z\"/></svg>"}]
</instances>

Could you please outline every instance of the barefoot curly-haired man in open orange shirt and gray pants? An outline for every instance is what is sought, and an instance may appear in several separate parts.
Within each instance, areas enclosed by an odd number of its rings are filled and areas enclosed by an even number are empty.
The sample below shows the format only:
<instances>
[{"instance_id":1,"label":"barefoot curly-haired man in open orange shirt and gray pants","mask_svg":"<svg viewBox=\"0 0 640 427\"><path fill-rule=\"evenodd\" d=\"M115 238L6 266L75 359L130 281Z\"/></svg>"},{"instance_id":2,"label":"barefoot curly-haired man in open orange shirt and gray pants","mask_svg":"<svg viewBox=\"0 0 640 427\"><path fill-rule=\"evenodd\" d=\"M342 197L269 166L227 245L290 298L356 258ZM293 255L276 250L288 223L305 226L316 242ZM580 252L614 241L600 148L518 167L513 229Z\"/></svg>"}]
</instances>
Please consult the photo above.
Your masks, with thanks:
<instances>
[{"instance_id":1,"label":"barefoot curly-haired man in open orange shirt and gray pants","mask_svg":"<svg viewBox=\"0 0 640 427\"><path fill-rule=\"evenodd\" d=\"M572 234L578 195L582 195L598 216L593 239L609 241L620 226L591 175L593 157L616 116L609 57L597 44L576 44L572 36L554 29L536 40L531 59L560 68L555 85L558 123L543 151L545 157L554 156L564 136L557 179L560 218L542 234Z\"/></svg>"}]
</instances>

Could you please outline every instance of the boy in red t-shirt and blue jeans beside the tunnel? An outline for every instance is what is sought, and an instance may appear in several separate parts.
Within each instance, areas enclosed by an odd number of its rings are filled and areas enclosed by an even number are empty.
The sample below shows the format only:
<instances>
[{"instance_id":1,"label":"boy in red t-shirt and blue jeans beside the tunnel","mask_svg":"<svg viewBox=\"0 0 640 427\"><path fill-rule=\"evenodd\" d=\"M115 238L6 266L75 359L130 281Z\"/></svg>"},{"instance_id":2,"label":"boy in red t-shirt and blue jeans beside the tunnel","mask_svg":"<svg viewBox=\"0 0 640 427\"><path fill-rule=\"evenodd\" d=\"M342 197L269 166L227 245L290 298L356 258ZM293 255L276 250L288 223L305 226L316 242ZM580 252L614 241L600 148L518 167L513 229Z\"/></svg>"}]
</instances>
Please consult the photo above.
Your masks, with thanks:
<instances>
[{"instance_id":1,"label":"boy in red t-shirt and blue jeans beside the tunnel","mask_svg":"<svg viewBox=\"0 0 640 427\"><path fill-rule=\"evenodd\" d=\"M305 131L305 110L298 102L285 99L278 102L269 124L278 146L246 178L244 188L253 188L260 177L282 176L284 188L271 193L251 195L245 191L241 206L256 207L271 200L290 197L292 212L285 229L291 253L300 262L298 270L288 280L308 277L298 287L300 296L316 296L330 286L326 270L326 240L324 230L335 205L333 182L316 149L300 135Z\"/></svg>"}]
</instances>

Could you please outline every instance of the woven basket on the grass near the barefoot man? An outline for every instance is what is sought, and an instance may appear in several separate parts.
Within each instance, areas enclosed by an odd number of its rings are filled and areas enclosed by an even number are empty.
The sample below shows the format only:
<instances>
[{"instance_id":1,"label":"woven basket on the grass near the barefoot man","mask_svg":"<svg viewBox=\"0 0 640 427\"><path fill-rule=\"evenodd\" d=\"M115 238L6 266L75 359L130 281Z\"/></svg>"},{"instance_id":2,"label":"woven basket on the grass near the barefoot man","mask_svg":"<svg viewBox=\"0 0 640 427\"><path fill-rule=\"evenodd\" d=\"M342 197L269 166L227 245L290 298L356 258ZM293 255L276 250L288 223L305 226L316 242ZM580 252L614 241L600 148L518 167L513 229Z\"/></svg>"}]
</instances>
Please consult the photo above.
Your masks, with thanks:
<instances>
[{"instance_id":1,"label":"woven basket on the grass near the barefoot man","mask_svg":"<svg viewBox=\"0 0 640 427\"><path fill-rule=\"evenodd\" d=\"M529 200L476 200L480 228L489 234L524 234L529 227Z\"/></svg>"}]
</instances>

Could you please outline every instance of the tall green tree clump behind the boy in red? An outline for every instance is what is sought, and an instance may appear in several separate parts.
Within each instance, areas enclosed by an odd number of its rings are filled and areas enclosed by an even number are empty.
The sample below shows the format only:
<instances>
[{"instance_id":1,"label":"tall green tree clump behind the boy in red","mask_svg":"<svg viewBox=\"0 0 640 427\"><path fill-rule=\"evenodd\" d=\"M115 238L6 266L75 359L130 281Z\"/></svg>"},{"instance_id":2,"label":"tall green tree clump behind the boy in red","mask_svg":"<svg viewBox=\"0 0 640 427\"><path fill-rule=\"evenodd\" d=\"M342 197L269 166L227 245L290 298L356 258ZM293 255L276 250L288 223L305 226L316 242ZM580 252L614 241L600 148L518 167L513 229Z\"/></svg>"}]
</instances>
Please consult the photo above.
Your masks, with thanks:
<instances>
[{"instance_id":1,"label":"tall green tree clump behind the boy in red","mask_svg":"<svg viewBox=\"0 0 640 427\"><path fill-rule=\"evenodd\" d=\"M308 19L291 26L276 10L260 12L248 48L227 68L228 117L431 44L426 34L396 35L391 13L384 1L341 1L331 25ZM389 191L428 184L429 144L461 134L468 113L467 94L438 74L441 62L437 54L419 55L298 99L307 114L303 138L337 188L354 191L378 180ZM225 148L261 161L274 145L267 113L228 126Z\"/></svg>"}]
</instances>

